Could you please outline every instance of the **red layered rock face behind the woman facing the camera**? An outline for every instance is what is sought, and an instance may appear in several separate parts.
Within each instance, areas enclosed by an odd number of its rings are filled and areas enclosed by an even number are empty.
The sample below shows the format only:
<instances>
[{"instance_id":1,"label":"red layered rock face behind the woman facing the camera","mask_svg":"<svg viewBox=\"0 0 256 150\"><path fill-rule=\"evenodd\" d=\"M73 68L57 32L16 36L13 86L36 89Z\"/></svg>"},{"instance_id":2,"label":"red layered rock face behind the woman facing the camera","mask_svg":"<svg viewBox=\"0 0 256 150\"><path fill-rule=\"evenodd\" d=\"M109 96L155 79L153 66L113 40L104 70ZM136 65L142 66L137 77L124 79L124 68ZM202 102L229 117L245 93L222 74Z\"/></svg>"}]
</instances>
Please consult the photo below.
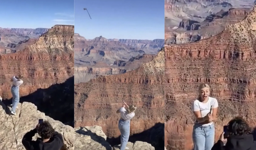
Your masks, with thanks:
<instances>
[{"instance_id":1,"label":"red layered rock face behind the woman facing the camera","mask_svg":"<svg viewBox=\"0 0 256 150\"><path fill-rule=\"evenodd\" d=\"M165 145L191 150L192 103L207 83L219 102L215 139L234 116L255 119L256 7L241 22L199 42L165 46Z\"/></svg>"}]
</instances>

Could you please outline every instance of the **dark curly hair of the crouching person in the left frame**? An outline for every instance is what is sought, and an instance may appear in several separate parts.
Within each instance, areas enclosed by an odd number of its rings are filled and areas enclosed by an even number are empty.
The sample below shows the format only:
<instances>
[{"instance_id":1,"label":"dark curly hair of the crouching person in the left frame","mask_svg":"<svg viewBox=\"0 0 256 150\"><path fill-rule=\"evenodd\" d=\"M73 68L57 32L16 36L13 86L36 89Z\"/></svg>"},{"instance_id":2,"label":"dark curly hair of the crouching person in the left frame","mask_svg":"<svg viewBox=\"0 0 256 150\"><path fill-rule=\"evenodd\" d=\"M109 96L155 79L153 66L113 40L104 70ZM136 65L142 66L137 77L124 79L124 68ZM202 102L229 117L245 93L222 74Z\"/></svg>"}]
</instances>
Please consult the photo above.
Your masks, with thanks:
<instances>
[{"instance_id":1,"label":"dark curly hair of the crouching person in the left frame","mask_svg":"<svg viewBox=\"0 0 256 150\"><path fill-rule=\"evenodd\" d=\"M44 121L42 124L39 125L38 134L39 136L41 136L42 139L48 139L53 136L54 129L48 121Z\"/></svg>"}]
</instances>

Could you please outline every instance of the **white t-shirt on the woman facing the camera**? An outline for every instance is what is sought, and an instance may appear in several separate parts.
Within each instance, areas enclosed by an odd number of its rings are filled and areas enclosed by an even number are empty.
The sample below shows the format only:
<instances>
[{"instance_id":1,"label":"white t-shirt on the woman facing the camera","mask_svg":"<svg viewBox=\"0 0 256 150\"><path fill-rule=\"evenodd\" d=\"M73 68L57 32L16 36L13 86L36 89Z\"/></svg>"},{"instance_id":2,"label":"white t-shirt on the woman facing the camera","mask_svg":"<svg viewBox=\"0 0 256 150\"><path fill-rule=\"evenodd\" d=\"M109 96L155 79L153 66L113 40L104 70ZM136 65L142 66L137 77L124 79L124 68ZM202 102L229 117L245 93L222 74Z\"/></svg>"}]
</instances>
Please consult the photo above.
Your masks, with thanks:
<instances>
[{"instance_id":1,"label":"white t-shirt on the woman facing the camera","mask_svg":"<svg viewBox=\"0 0 256 150\"><path fill-rule=\"evenodd\" d=\"M218 101L216 98L209 97L208 102L206 103L200 102L199 100L195 100L193 104L193 111L194 112L200 111L201 116L204 117L210 112L211 106L212 108L218 107ZM203 124L203 126L207 126L211 124L212 122L209 122L208 124Z\"/></svg>"}]
</instances>

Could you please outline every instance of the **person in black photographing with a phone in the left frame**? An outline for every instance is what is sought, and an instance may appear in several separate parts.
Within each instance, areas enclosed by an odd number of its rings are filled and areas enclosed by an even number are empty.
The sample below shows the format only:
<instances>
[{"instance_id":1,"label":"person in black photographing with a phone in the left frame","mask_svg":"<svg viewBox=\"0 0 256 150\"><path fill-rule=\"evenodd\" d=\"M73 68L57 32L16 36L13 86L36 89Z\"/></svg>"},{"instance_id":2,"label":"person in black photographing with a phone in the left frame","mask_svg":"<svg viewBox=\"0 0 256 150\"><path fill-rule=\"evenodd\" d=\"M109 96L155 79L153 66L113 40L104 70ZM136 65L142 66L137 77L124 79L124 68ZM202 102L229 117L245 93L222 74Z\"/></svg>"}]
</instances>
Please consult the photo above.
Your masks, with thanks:
<instances>
[{"instance_id":1,"label":"person in black photographing with a phone in the left frame","mask_svg":"<svg viewBox=\"0 0 256 150\"><path fill-rule=\"evenodd\" d=\"M32 137L36 133L41 138L37 138L34 141ZM64 141L62 135L54 131L49 122L39 119L36 128L24 135L22 144L26 150L60 150L64 145Z\"/></svg>"}]
</instances>

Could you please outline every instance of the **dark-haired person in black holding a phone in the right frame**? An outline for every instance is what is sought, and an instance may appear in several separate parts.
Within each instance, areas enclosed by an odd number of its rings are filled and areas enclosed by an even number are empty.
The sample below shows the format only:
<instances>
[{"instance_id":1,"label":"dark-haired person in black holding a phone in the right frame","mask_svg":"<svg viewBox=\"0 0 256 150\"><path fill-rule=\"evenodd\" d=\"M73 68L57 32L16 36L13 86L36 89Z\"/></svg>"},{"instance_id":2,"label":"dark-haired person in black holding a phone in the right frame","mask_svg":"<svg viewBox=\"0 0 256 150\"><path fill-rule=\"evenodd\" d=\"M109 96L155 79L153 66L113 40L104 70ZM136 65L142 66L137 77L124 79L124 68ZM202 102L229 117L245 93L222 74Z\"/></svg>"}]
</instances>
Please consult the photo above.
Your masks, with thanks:
<instances>
[{"instance_id":1,"label":"dark-haired person in black holding a phone in the right frame","mask_svg":"<svg viewBox=\"0 0 256 150\"><path fill-rule=\"evenodd\" d=\"M224 126L224 130L226 132L222 132L212 150L256 150L252 128L242 117L235 117L230 120L228 125Z\"/></svg>"}]
</instances>

